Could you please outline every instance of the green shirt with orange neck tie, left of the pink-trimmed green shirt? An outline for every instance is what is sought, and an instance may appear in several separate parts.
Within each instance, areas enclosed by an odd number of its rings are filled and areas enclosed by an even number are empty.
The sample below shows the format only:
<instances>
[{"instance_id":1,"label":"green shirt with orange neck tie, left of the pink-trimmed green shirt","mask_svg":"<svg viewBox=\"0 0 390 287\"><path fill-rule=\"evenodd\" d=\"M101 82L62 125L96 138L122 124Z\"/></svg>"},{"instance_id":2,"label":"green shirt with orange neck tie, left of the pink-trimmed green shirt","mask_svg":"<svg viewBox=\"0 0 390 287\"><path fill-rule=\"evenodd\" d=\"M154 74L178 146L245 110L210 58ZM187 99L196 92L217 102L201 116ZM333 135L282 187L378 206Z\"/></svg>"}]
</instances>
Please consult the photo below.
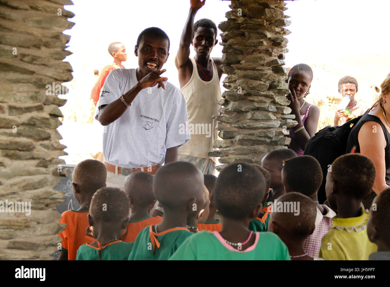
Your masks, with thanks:
<instances>
[{"instance_id":1,"label":"green shirt with orange neck tie, left of the pink-trimmed green shirt","mask_svg":"<svg viewBox=\"0 0 390 287\"><path fill-rule=\"evenodd\" d=\"M133 250L129 255L129 260L168 260L179 246L193 233L188 229L175 228L168 229L156 234L156 239L160 247L155 246L153 254L153 244L150 235L150 226L145 227L135 239Z\"/></svg>"}]
</instances>

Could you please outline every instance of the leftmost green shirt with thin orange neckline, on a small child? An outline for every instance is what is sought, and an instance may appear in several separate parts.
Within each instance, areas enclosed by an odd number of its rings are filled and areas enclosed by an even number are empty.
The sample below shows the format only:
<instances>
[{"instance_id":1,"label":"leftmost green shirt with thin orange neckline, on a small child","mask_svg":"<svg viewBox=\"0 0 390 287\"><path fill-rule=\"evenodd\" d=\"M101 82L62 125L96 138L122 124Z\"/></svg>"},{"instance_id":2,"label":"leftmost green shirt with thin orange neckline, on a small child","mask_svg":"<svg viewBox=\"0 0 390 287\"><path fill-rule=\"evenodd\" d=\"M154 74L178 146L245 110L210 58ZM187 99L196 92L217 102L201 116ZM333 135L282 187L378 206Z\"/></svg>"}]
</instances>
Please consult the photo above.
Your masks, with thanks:
<instances>
[{"instance_id":1,"label":"leftmost green shirt with thin orange neckline, on a small child","mask_svg":"<svg viewBox=\"0 0 390 287\"><path fill-rule=\"evenodd\" d=\"M113 242L100 251L100 260L127 260L134 242ZM83 244L77 251L76 260L99 260L99 249Z\"/></svg>"}]
</instances>

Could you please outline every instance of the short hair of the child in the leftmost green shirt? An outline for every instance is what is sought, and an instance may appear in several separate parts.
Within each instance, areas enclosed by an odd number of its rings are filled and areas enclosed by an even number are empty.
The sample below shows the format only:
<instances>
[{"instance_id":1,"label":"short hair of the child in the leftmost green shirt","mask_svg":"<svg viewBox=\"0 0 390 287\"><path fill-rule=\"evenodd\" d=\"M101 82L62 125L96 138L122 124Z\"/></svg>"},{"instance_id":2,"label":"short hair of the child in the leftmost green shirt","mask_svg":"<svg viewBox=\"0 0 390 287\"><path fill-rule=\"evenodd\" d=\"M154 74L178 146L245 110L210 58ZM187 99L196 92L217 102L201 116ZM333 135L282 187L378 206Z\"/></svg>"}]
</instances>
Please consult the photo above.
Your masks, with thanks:
<instances>
[{"instance_id":1,"label":"short hair of the child in the leftmost green shirt","mask_svg":"<svg viewBox=\"0 0 390 287\"><path fill-rule=\"evenodd\" d=\"M89 213L94 221L115 222L129 217L129 198L116 187L103 187L92 196Z\"/></svg>"}]
</instances>

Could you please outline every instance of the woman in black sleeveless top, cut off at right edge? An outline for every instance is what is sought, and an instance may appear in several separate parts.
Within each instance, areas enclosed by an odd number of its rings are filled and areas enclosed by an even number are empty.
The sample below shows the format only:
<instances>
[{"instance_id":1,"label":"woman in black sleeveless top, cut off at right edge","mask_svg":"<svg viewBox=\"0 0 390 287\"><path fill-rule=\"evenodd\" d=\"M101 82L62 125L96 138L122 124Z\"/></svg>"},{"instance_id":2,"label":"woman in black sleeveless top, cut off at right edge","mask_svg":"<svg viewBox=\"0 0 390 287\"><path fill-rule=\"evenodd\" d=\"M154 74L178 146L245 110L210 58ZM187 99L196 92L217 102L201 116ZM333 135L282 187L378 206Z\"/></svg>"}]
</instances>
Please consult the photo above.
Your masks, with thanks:
<instances>
[{"instance_id":1,"label":"woman in black sleeveless top, cut off at right edge","mask_svg":"<svg viewBox=\"0 0 390 287\"><path fill-rule=\"evenodd\" d=\"M390 186L390 74L381 84L381 95L352 128L347 150L369 157L375 164L376 176L369 200ZM364 202L363 202L364 203ZM370 203L371 204L371 203ZM367 208L368 205L365 204Z\"/></svg>"}]
</instances>

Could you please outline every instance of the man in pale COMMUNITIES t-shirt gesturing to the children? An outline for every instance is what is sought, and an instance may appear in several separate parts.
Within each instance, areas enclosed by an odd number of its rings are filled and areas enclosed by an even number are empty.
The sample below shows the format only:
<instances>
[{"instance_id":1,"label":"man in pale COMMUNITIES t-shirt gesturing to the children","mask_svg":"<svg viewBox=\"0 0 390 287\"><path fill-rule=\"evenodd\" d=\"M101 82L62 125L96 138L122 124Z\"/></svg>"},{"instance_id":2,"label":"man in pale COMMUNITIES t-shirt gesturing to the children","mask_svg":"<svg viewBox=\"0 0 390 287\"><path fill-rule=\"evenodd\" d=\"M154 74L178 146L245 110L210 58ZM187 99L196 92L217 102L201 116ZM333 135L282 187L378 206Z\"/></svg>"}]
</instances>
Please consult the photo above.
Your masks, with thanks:
<instances>
[{"instance_id":1,"label":"man in pale COMMUNITIES t-shirt gesturing to the children","mask_svg":"<svg viewBox=\"0 0 390 287\"><path fill-rule=\"evenodd\" d=\"M188 121L183 94L161 76L168 51L163 30L145 29L134 51L138 68L111 71L101 89L96 119L106 126L107 186L122 189L124 178L135 171L156 173L161 164L177 161L179 146L190 140L179 129Z\"/></svg>"}]
</instances>

